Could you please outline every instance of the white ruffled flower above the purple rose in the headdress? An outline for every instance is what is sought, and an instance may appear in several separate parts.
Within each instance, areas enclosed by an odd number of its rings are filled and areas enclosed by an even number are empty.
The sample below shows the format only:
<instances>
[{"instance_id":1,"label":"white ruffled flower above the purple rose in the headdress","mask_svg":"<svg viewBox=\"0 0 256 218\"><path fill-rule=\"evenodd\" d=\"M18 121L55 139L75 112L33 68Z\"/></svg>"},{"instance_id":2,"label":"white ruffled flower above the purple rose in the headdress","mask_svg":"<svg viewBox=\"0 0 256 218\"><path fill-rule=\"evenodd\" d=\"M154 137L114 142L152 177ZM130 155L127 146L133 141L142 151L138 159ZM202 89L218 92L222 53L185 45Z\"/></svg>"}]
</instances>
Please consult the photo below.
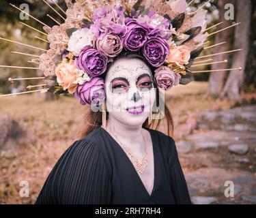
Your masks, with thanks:
<instances>
[{"instance_id":1,"label":"white ruffled flower above the purple rose in the headdress","mask_svg":"<svg viewBox=\"0 0 256 218\"><path fill-rule=\"evenodd\" d=\"M79 56L80 51L85 46L93 46L94 33L89 29L78 29L72 33L68 40L68 50L73 52L74 56Z\"/></svg>"}]
</instances>

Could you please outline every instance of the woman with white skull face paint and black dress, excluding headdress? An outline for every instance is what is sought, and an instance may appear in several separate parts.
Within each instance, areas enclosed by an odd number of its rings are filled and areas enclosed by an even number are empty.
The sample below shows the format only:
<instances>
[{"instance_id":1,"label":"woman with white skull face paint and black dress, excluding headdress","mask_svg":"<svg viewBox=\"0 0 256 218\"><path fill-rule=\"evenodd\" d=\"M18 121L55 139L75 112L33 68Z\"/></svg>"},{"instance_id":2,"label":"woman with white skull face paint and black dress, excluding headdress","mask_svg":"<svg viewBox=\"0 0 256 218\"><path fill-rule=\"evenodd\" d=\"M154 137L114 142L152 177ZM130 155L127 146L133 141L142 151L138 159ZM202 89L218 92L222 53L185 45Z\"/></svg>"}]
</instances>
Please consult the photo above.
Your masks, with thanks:
<instances>
[{"instance_id":1,"label":"woman with white skull face paint and black dress, excluding headdress","mask_svg":"<svg viewBox=\"0 0 256 218\"><path fill-rule=\"evenodd\" d=\"M163 106L173 127L151 65L122 52L102 78L106 127L102 112L89 110L81 140L57 161L35 204L190 204L173 138L150 129L161 119L149 126Z\"/></svg>"}]
</instances>

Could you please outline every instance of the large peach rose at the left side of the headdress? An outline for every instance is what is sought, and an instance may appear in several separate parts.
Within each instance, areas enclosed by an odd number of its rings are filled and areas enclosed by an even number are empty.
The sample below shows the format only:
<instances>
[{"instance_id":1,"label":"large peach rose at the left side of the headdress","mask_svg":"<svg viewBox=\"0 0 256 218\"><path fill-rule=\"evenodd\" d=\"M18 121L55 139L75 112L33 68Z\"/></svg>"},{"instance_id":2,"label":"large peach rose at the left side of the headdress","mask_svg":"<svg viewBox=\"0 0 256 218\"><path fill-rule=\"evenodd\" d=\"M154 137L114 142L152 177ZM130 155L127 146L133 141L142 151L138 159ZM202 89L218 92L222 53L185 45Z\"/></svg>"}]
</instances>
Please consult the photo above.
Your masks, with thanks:
<instances>
[{"instance_id":1,"label":"large peach rose at the left side of the headdress","mask_svg":"<svg viewBox=\"0 0 256 218\"><path fill-rule=\"evenodd\" d=\"M74 93L76 91L77 84L73 82L79 78L81 70L77 69L72 63L65 63L64 61L60 63L55 69L55 74L57 76L57 82L63 90L68 89L69 93Z\"/></svg>"}]
</instances>

